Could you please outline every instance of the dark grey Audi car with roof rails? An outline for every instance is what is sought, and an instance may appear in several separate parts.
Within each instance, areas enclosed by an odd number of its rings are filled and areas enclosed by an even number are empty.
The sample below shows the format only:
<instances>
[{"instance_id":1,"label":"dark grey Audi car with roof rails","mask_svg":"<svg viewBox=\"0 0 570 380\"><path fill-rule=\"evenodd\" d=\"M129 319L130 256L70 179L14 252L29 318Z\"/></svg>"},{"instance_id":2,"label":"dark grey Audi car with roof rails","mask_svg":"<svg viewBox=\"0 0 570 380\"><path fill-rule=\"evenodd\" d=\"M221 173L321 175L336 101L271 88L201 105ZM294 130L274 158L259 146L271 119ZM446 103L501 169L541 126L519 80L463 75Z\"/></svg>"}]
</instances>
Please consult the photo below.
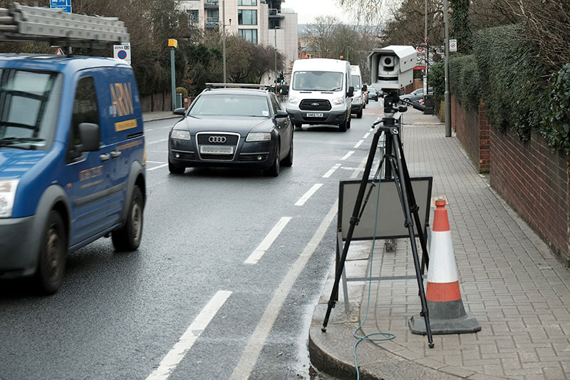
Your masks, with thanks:
<instances>
[{"instance_id":1,"label":"dark grey Audi car with roof rails","mask_svg":"<svg viewBox=\"0 0 570 380\"><path fill-rule=\"evenodd\" d=\"M227 86L232 88L210 86L187 111L175 110L184 117L170 130L170 173L241 167L276 177L281 165L293 165L293 125L276 95L252 85Z\"/></svg>"}]
</instances>

